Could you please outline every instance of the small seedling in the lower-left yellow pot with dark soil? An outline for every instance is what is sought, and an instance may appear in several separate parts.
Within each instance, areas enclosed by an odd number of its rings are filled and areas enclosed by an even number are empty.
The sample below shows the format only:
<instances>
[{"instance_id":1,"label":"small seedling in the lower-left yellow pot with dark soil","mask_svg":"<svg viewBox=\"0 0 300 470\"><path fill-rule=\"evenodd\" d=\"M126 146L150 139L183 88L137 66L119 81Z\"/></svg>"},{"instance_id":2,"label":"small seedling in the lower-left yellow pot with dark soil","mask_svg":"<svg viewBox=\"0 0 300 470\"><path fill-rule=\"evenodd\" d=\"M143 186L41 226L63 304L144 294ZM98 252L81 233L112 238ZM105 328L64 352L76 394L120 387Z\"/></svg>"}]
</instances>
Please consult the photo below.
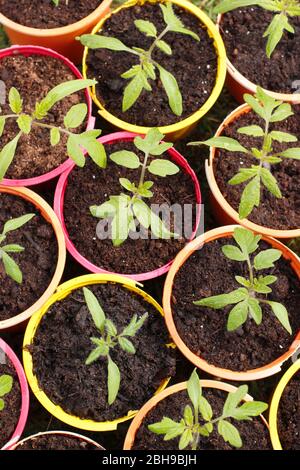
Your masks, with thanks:
<instances>
[{"instance_id":1,"label":"small seedling in the lower-left yellow pot with dark soil","mask_svg":"<svg viewBox=\"0 0 300 470\"><path fill-rule=\"evenodd\" d=\"M89 354L86 365L92 364L100 357L107 358L107 388L108 388L108 404L112 405L117 398L121 382L121 374L119 367L111 358L111 350L119 346L127 354L135 354L134 344L128 339L133 338L142 328L148 313L144 313L141 318L135 314L129 324L118 333L115 324L106 317L97 297L87 287L83 288L86 305L92 315L93 322L99 330L99 337L91 338L94 349Z\"/></svg>"}]
</instances>

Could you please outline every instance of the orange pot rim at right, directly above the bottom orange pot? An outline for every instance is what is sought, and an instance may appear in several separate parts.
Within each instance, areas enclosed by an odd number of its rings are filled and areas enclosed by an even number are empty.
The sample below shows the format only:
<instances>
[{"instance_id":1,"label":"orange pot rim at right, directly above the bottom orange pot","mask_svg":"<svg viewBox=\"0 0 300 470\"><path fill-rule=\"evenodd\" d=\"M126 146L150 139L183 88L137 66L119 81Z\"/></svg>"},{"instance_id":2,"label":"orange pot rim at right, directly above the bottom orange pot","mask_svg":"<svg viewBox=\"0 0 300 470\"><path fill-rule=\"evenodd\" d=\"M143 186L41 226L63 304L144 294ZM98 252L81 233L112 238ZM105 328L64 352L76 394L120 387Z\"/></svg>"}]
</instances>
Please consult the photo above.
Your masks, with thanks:
<instances>
[{"instance_id":1,"label":"orange pot rim at right, directly above the bottom orange pot","mask_svg":"<svg viewBox=\"0 0 300 470\"><path fill-rule=\"evenodd\" d=\"M167 324L167 328L169 330L170 336L173 339L174 343L178 347L178 349L182 352L182 354L196 367L199 369L204 370L210 375L215 377L220 377L226 380L232 381L251 381L251 380L259 380L269 377L271 375L277 374L280 372L281 367L285 361L287 361L290 357L293 356L295 351L300 347L300 331L296 335L296 337L291 340L291 346L287 352L282 354L276 360L271 362L270 364L266 364L262 367L251 369L243 372L232 371L229 369L223 369L221 367L216 367L212 364L209 364L206 360L198 356L197 354L193 353L183 342L179 333L176 329L176 325L173 318L172 307L171 307L171 297L172 297L172 290L174 285L174 279L176 274L178 273L179 269L186 260L205 243L209 243L213 240L217 240L223 238L231 238L236 225L228 225L226 227L219 227L214 230L210 230L205 234L197 237L192 242L188 243L176 256L171 269L168 273L166 278L165 286L164 286L164 293L163 293L163 309L165 314L165 321ZM292 269L295 271L295 276L300 278L300 259L298 256L283 245L278 240L274 238L266 237L265 235L262 236L262 240L267 242L271 245L272 248L280 250L282 252L283 258L287 259L291 263Z\"/></svg>"}]
</instances>

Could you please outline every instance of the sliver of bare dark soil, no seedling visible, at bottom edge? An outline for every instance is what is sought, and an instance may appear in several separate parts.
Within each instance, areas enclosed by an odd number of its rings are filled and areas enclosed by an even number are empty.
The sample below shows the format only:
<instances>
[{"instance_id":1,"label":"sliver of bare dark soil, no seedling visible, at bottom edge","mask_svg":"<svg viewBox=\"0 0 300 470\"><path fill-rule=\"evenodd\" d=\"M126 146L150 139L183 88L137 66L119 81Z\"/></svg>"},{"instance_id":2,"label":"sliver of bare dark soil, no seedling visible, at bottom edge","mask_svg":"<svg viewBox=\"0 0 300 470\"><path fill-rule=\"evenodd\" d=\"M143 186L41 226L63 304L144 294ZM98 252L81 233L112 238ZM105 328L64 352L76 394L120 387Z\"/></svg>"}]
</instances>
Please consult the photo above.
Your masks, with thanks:
<instances>
[{"instance_id":1,"label":"sliver of bare dark soil, no seedling visible, at bottom edge","mask_svg":"<svg viewBox=\"0 0 300 470\"><path fill-rule=\"evenodd\" d=\"M95 445L77 437L47 434L28 439L16 450L100 450Z\"/></svg>"}]
</instances>

